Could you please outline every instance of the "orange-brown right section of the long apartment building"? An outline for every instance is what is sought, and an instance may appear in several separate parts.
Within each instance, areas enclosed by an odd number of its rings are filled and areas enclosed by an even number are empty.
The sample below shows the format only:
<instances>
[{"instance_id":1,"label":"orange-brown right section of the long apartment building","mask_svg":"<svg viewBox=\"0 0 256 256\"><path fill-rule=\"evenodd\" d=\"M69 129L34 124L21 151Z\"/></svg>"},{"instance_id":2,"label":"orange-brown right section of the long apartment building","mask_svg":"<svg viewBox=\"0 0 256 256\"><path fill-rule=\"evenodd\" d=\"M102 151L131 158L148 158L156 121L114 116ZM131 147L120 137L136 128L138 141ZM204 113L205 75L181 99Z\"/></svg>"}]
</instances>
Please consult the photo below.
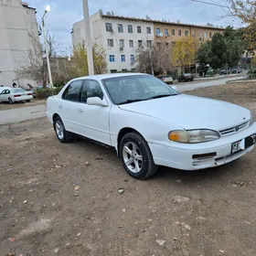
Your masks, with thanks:
<instances>
[{"instance_id":1,"label":"orange-brown right section of the long apartment building","mask_svg":"<svg viewBox=\"0 0 256 256\"><path fill-rule=\"evenodd\" d=\"M165 21L154 21L156 43L164 43L166 47L183 37L195 37L200 41L210 40L215 33L223 33L224 28L197 26Z\"/></svg>"}]
</instances>

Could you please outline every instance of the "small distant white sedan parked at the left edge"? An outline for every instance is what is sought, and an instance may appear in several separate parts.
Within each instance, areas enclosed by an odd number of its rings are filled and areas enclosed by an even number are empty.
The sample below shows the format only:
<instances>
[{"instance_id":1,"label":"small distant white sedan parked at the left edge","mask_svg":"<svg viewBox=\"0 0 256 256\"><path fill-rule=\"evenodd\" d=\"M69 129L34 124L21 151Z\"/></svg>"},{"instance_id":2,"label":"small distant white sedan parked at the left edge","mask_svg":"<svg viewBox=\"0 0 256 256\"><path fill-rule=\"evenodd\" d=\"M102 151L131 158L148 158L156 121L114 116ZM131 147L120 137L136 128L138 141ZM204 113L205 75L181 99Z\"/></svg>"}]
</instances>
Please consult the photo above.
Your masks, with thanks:
<instances>
[{"instance_id":1,"label":"small distant white sedan parked at the left edge","mask_svg":"<svg viewBox=\"0 0 256 256\"><path fill-rule=\"evenodd\" d=\"M16 101L31 101L33 99L33 95L31 91L25 91L22 88L9 88L5 87L5 89L0 93L0 101L6 101L10 104Z\"/></svg>"}]
</instances>

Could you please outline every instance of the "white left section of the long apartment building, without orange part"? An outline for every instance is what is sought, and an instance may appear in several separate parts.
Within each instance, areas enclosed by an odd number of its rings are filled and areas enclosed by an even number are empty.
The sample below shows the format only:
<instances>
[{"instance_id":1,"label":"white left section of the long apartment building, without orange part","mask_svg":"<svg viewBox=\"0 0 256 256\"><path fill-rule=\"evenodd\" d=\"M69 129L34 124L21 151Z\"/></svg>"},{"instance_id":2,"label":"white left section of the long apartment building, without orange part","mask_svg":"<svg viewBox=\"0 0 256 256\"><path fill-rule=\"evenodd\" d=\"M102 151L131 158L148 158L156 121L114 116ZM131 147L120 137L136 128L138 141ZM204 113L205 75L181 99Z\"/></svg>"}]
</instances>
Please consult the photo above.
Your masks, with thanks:
<instances>
[{"instance_id":1,"label":"white left section of the long apartment building, without orange part","mask_svg":"<svg viewBox=\"0 0 256 256\"><path fill-rule=\"evenodd\" d=\"M92 40L106 49L109 72L135 69L136 50L141 44L154 42L154 25L150 20L98 12L90 16L90 21ZM73 46L86 40L83 20L73 25L71 35Z\"/></svg>"}]
</instances>

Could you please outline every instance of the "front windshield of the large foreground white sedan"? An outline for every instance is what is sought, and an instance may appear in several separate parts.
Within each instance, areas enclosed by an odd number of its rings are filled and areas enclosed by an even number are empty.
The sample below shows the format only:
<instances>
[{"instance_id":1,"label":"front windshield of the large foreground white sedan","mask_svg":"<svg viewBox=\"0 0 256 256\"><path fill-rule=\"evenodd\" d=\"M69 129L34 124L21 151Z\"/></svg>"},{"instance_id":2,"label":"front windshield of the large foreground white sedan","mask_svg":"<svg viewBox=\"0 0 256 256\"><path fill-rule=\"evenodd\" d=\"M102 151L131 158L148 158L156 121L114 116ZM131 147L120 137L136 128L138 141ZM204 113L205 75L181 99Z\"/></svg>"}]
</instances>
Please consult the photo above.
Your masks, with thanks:
<instances>
[{"instance_id":1,"label":"front windshield of the large foreground white sedan","mask_svg":"<svg viewBox=\"0 0 256 256\"><path fill-rule=\"evenodd\" d=\"M178 95L178 93L150 75L123 76L102 80L114 104L148 101Z\"/></svg>"}]
</instances>

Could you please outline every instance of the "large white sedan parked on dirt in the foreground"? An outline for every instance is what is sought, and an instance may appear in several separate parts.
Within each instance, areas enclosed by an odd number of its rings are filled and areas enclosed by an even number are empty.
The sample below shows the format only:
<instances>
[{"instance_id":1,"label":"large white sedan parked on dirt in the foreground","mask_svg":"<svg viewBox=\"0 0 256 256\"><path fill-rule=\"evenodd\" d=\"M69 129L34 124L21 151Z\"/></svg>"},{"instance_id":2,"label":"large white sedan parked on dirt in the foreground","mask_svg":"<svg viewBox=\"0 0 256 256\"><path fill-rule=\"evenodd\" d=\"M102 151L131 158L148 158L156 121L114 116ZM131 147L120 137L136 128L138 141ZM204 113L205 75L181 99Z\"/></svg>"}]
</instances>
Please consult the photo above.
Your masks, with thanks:
<instances>
[{"instance_id":1,"label":"large white sedan parked on dirt in the foreground","mask_svg":"<svg viewBox=\"0 0 256 256\"><path fill-rule=\"evenodd\" d=\"M158 165L197 170L250 152L256 123L240 106L179 94L146 74L106 74L69 81L47 101L60 142L75 134L115 148L133 177Z\"/></svg>"}]
</instances>

